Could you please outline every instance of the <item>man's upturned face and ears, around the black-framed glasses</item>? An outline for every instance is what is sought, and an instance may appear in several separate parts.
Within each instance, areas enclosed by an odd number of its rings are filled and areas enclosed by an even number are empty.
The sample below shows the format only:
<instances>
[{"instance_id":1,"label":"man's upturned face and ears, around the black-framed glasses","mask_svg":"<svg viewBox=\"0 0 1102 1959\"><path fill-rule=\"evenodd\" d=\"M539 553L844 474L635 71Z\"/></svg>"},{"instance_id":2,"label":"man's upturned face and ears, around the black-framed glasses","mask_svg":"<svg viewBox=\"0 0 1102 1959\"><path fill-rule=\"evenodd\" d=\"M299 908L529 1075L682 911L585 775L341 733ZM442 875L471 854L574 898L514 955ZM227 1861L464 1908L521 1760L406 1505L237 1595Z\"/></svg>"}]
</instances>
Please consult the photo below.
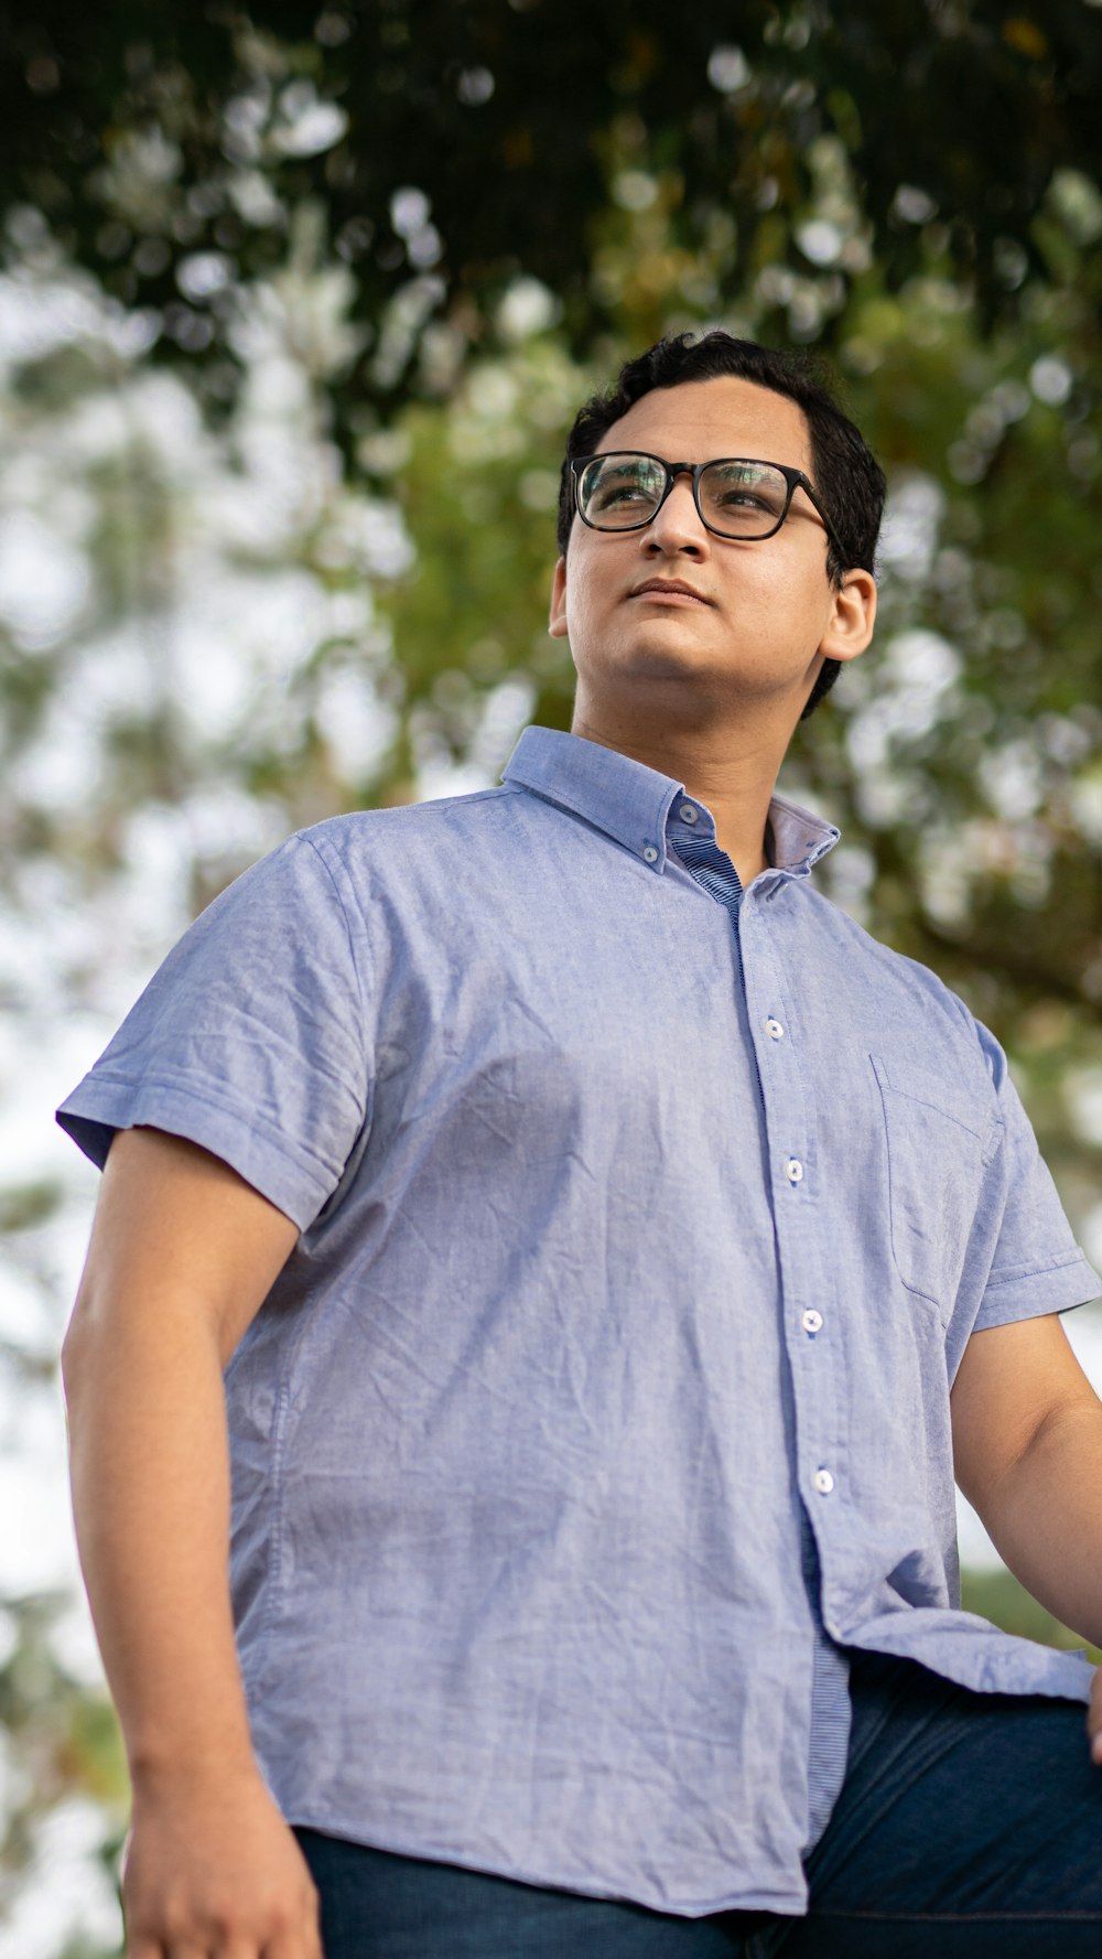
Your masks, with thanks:
<instances>
[{"instance_id":1,"label":"man's upturned face and ears, around the black-framed glasses","mask_svg":"<svg viewBox=\"0 0 1102 1959\"><path fill-rule=\"evenodd\" d=\"M734 376L646 394L599 445L667 462L758 456L814 482L803 409ZM579 703L626 693L673 707L691 690L712 705L775 699L795 721L822 660L853 658L871 637L871 576L851 574L836 592L826 552L822 519L803 490L769 539L707 531L689 476L677 476L642 531L591 531L575 515L556 566L550 631L570 637Z\"/></svg>"}]
</instances>

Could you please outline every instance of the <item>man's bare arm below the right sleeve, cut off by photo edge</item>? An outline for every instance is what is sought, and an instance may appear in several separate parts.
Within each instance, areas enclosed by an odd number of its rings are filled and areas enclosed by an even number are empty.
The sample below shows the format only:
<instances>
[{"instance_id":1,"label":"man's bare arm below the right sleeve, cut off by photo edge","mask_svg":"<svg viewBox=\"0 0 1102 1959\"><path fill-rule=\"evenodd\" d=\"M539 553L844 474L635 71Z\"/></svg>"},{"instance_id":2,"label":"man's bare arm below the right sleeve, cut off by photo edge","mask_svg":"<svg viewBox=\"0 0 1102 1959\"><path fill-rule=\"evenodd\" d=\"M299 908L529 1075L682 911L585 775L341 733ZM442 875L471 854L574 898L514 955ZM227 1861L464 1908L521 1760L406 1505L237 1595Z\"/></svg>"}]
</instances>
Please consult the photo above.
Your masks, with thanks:
<instances>
[{"instance_id":1,"label":"man's bare arm below the right sleeve, cut off by photo edge","mask_svg":"<svg viewBox=\"0 0 1102 1959\"><path fill-rule=\"evenodd\" d=\"M1055 1314L973 1334L953 1383L957 1483L1010 1569L1102 1646L1102 1403ZM1102 1675L1088 1730L1102 1763Z\"/></svg>"}]
</instances>

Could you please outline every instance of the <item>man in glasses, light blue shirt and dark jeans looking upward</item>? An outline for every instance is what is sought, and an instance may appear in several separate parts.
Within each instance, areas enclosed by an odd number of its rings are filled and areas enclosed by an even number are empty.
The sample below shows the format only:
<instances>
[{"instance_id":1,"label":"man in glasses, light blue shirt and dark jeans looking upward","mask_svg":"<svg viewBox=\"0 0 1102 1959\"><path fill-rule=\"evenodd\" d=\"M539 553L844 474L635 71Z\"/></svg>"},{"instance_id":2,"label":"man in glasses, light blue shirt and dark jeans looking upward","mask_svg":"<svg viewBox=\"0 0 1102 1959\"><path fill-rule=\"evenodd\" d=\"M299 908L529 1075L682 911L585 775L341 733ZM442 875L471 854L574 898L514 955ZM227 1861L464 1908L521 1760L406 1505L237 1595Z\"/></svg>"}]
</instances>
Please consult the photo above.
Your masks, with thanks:
<instances>
[{"instance_id":1,"label":"man in glasses, light blue shirt and dark jeans looking upward","mask_svg":"<svg viewBox=\"0 0 1102 1959\"><path fill-rule=\"evenodd\" d=\"M564 466L574 735L292 838L65 1103L131 1959L317 1959L315 1888L327 1959L1096 1951L1102 1698L957 1610L953 1528L955 1463L1102 1638L1096 1277L773 795L881 503L799 362L628 364Z\"/></svg>"}]
</instances>

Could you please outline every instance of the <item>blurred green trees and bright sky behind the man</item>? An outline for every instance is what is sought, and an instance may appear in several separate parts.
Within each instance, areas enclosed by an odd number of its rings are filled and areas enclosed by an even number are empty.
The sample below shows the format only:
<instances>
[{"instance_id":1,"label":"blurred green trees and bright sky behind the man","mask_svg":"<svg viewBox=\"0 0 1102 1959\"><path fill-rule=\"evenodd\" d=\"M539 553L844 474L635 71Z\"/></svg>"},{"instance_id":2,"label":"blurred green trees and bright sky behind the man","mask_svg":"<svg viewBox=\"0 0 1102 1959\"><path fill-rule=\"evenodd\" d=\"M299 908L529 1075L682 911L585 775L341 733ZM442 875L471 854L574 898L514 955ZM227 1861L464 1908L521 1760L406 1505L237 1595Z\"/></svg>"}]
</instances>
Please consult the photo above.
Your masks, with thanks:
<instances>
[{"instance_id":1,"label":"blurred green trees and bright sky behind the man","mask_svg":"<svg viewBox=\"0 0 1102 1959\"><path fill-rule=\"evenodd\" d=\"M119 1949L53 1103L290 829L566 725L562 437L660 331L820 349L885 460L877 648L783 780L994 1027L1102 1258L1100 86L1100 0L8 6L0 1959ZM1079 1644L961 1542L967 1602Z\"/></svg>"}]
</instances>

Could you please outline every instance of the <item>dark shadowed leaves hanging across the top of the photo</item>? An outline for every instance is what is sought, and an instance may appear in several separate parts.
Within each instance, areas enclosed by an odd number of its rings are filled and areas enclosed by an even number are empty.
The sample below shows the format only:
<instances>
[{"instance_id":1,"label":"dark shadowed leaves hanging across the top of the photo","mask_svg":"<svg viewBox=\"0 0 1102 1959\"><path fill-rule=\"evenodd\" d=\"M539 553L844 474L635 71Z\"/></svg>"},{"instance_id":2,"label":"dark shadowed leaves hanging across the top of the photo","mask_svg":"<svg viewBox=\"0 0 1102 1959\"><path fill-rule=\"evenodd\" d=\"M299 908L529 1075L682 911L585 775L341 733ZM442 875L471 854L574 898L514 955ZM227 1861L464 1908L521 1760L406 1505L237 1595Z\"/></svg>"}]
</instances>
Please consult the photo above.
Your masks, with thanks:
<instances>
[{"instance_id":1,"label":"dark shadowed leaves hanging across the top of the photo","mask_svg":"<svg viewBox=\"0 0 1102 1959\"><path fill-rule=\"evenodd\" d=\"M750 0L722 24L662 0L43 0L0 49L0 206L43 214L215 400L243 290L284 268L296 212L325 214L352 294L325 355L346 451L364 404L425 386L425 319L480 345L519 274L556 294L575 355L619 331L611 206L662 217L640 315L648 292L687 284L707 308L789 261L797 290L832 288L830 317L873 259L898 290L934 237L990 321L1053 272L1053 180L1094 184L1102 163L1084 0ZM806 215L824 149L849 165L849 237ZM395 311L423 317L388 335ZM775 292L763 327L824 319Z\"/></svg>"}]
</instances>

